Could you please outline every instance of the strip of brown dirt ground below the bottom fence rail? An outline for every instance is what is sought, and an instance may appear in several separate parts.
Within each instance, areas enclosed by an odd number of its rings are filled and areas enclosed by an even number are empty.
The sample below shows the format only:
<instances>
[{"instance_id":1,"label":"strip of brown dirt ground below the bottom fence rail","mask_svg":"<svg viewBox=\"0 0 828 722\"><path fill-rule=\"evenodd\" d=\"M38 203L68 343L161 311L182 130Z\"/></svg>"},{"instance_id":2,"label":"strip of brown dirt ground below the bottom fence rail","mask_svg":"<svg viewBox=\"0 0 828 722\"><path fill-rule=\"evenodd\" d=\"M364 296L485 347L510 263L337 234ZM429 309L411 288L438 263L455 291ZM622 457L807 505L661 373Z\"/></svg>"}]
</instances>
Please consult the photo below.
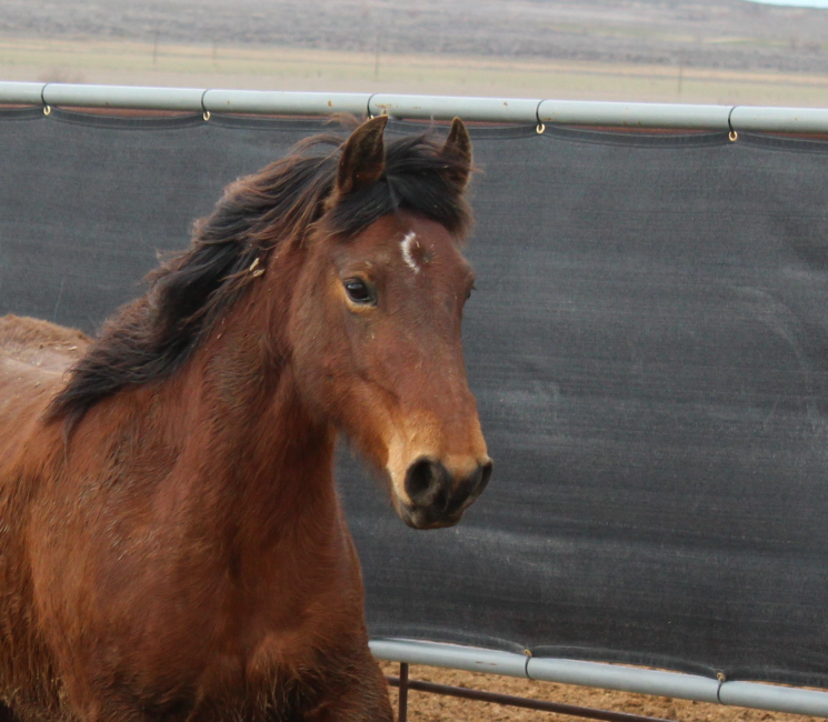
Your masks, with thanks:
<instances>
[{"instance_id":1,"label":"strip of brown dirt ground below the bottom fence rail","mask_svg":"<svg viewBox=\"0 0 828 722\"><path fill-rule=\"evenodd\" d=\"M387 675L398 676L399 664L382 662ZM586 686L535 682L508 676L479 674L457 670L442 670L431 666L411 666L409 679L467 686L487 692L499 692L536 700L562 702L598 710L612 710L629 714L641 714L677 722L817 722L818 718L798 714L764 712L737 706L721 706L705 702L674 700L662 696L647 696L611 690L597 690ZM397 690L391 690L391 702L397 705ZM513 706L502 706L486 702L460 700L450 696L409 691L408 718L411 722L552 722L553 720L575 720L577 718L536 712Z\"/></svg>"}]
</instances>

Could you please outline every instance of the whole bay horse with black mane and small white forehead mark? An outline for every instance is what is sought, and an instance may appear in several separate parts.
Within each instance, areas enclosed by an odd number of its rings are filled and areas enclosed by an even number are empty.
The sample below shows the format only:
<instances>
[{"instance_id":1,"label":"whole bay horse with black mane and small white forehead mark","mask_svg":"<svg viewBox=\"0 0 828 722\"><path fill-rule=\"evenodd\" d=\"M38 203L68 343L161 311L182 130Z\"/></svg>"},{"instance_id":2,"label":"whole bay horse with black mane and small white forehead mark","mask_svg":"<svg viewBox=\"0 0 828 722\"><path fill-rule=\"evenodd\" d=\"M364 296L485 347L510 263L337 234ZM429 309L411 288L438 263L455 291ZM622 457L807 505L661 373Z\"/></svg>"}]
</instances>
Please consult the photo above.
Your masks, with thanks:
<instances>
[{"instance_id":1,"label":"whole bay horse with black mane and small white forehead mark","mask_svg":"<svg viewBox=\"0 0 828 722\"><path fill-rule=\"evenodd\" d=\"M460 341L469 136L385 126L229 185L97 339L0 322L0 718L392 719L336 439L416 529L456 523L491 460Z\"/></svg>"}]
</instances>

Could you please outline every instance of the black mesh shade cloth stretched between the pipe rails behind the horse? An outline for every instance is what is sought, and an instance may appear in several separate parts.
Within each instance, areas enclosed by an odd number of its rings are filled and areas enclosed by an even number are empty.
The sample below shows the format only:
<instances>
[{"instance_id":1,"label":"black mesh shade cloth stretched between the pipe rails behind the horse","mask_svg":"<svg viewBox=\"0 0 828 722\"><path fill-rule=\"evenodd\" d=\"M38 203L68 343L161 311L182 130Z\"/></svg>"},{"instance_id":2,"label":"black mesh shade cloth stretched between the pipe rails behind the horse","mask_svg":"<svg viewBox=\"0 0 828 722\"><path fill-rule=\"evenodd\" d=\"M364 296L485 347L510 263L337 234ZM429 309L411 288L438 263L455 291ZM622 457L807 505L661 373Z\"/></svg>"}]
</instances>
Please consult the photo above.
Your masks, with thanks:
<instances>
[{"instance_id":1,"label":"black mesh shade cloth stretched between the pipe rails behind the horse","mask_svg":"<svg viewBox=\"0 0 828 722\"><path fill-rule=\"evenodd\" d=\"M0 113L0 313L93 332L321 128ZM342 454L371 633L828 686L828 143L472 139L495 475L416 532Z\"/></svg>"}]
</instances>

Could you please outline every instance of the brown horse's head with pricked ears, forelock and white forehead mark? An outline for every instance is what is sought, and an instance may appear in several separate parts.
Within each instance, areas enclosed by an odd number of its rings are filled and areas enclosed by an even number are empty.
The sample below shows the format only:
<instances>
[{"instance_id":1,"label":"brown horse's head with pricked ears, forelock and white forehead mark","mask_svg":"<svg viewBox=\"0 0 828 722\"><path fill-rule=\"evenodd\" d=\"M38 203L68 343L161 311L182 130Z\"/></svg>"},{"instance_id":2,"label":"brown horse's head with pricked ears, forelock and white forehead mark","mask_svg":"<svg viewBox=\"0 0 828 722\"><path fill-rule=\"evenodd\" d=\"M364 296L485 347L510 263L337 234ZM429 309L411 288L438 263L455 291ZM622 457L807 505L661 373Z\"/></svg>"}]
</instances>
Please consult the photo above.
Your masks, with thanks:
<instances>
[{"instance_id":1,"label":"brown horse's head with pricked ears, forelock and white forehead mark","mask_svg":"<svg viewBox=\"0 0 828 722\"><path fill-rule=\"evenodd\" d=\"M471 143L456 119L443 146L386 147L386 120L341 149L288 332L311 407L389 482L407 524L435 529L460 520L492 469L460 334L475 280L460 249Z\"/></svg>"}]
</instances>

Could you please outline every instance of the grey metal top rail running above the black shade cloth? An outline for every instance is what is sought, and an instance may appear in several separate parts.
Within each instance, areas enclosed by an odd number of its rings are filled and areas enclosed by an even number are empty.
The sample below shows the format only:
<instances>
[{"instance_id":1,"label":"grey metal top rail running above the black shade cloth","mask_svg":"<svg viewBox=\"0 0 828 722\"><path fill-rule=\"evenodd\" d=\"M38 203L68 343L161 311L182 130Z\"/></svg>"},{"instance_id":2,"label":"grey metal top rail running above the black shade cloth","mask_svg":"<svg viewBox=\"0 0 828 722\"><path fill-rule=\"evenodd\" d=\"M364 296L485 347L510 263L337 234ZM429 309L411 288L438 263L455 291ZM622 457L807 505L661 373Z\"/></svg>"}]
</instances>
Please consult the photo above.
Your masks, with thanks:
<instances>
[{"instance_id":1,"label":"grey metal top rail running above the black shade cloth","mask_svg":"<svg viewBox=\"0 0 828 722\"><path fill-rule=\"evenodd\" d=\"M624 103L528 98L462 98L371 93L282 92L202 88L144 88L0 82L0 103L275 116L387 113L399 119L463 120L619 128L666 128L738 133L828 133L828 108Z\"/></svg>"}]
</instances>

